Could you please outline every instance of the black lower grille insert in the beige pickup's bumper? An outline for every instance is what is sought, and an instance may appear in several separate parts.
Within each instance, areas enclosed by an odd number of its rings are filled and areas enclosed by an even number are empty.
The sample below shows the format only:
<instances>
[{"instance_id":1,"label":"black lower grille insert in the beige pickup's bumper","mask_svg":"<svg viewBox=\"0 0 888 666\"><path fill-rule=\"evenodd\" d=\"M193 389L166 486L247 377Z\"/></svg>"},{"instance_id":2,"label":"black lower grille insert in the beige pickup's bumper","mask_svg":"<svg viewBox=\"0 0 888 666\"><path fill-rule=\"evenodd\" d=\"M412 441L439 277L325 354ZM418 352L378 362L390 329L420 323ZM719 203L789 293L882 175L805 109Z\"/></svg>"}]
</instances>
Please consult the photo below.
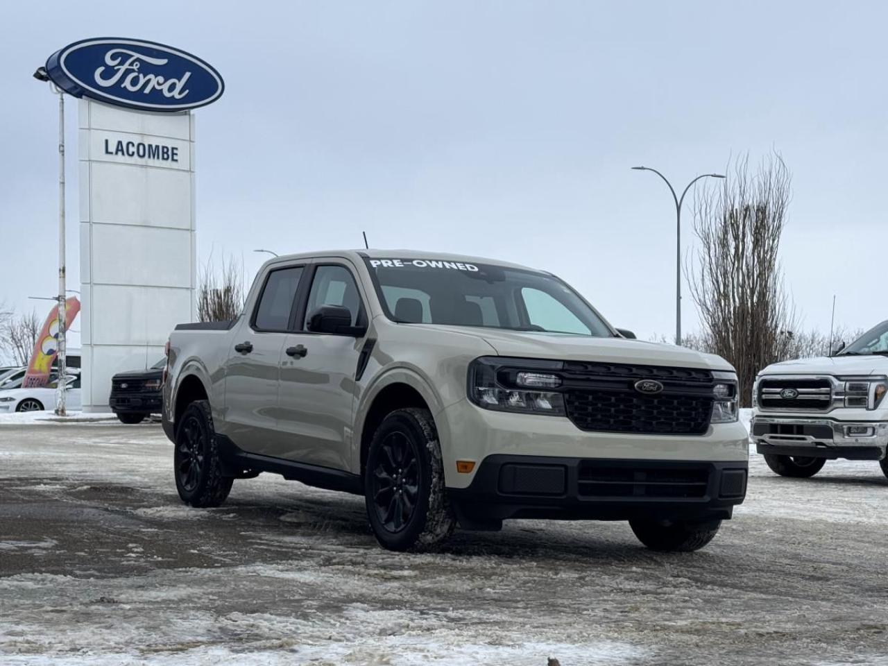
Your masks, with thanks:
<instances>
[{"instance_id":1,"label":"black lower grille insert in the beige pickup's bumper","mask_svg":"<svg viewBox=\"0 0 888 666\"><path fill-rule=\"evenodd\" d=\"M706 495L708 466L621 467L582 461L577 492L586 497L676 497Z\"/></svg>"}]
</instances>

